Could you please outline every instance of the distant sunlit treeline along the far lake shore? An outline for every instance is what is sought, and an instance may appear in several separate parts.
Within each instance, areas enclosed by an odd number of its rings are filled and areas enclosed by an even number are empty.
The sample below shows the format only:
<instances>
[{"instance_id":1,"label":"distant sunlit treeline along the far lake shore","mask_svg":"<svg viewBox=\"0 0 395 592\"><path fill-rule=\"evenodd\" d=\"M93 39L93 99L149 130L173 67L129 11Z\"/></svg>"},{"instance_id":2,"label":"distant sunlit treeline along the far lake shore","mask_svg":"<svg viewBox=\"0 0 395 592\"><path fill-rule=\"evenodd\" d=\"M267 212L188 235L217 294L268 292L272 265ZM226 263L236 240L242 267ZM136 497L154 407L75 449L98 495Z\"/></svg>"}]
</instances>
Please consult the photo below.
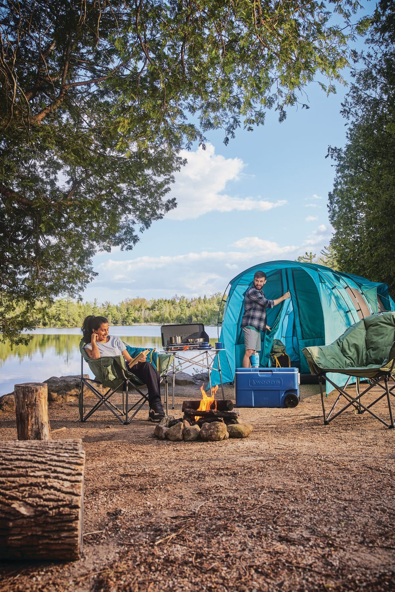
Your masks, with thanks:
<instances>
[{"instance_id":1,"label":"distant sunlit treeline along the far lake shore","mask_svg":"<svg viewBox=\"0 0 395 592\"><path fill-rule=\"evenodd\" d=\"M108 318L111 325L204 323L216 325L222 294L207 298L173 298L146 300L130 298L119 304L97 300L82 303L71 298L59 298L47 310L46 321L41 327L81 327L88 314ZM223 309L221 310L223 312Z\"/></svg>"}]
</instances>

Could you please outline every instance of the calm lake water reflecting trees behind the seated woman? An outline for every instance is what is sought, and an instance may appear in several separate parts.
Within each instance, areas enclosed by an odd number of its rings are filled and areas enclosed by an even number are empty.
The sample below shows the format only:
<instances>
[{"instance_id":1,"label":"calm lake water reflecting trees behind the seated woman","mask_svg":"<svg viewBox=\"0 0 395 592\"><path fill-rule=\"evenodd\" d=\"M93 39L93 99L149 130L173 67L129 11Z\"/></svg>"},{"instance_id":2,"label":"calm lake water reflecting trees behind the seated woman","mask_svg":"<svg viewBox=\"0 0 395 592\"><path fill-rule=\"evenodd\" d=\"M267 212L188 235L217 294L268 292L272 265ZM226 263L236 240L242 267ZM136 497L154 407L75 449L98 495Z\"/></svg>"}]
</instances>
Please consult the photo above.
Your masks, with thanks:
<instances>
[{"instance_id":1,"label":"calm lake water reflecting trees behind the seated woman","mask_svg":"<svg viewBox=\"0 0 395 592\"><path fill-rule=\"evenodd\" d=\"M217 327L205 327L210 343L218 340ZM0 396L14 390L21 382L42 382L52 376L81 373L79 342L81 329L36 329L29 331L33 339L27 346L18 345L11 350L8 343L0 343ZM162 349L160 326L111 326L111 335L118 335L136 348ZM193 368L187 370L193 371ZM85 374L90 374L84 362ZM93 375L91 374L91 377Z\"/></svg>"}]
</instances>

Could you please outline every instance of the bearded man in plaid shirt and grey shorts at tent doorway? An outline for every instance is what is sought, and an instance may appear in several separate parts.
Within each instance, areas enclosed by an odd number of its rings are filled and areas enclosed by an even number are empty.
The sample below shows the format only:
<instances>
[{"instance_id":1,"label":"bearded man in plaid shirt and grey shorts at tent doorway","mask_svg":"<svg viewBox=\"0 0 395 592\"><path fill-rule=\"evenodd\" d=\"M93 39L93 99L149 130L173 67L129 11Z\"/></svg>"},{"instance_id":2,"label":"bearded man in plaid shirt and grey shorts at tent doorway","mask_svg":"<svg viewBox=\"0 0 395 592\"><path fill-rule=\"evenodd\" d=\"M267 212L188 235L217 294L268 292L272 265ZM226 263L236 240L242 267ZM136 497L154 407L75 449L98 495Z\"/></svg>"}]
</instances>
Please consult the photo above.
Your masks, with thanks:
<instances>
[{"instance_id":1,"label":"bearded man in plaid shirt and grey shorts at tent doorway","mask_svg":"<svg viewBox=\"0 0 395 592\"><path fill-rule=\"evenodd\" d=\"M290 298L290 292L285 292L280 298L268 300L262 291L265 284L265 272L256 271L253 276L253 285L248 288L244 298L242 331L246 351L243 358L243 368L251 368L250 356L254 351L261 351L261 331L270 329L266 325L266 308L273 308L283 300Z\"/></svg>"}]
</instances>

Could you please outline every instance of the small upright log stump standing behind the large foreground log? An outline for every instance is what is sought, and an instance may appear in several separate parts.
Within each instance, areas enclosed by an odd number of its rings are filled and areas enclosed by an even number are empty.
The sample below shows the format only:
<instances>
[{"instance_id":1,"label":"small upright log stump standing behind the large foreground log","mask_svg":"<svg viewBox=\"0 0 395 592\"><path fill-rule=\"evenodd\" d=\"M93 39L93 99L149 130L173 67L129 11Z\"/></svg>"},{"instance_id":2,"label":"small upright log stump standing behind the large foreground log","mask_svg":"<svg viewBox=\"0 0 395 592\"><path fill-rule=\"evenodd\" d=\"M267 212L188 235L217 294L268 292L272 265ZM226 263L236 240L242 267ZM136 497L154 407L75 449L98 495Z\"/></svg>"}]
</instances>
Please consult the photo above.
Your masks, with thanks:
<instances>
[{"instance_id":1,"label":"small upright log stump standing behind the large foreground log","mask_svg":"<svg viewBox=\"0 0 395 592\"><path fill-rule=\"evenodd\" d=\"M46 382L15 384L14 397L18 440L50 440Z\"/></svg>"}]
</instances>

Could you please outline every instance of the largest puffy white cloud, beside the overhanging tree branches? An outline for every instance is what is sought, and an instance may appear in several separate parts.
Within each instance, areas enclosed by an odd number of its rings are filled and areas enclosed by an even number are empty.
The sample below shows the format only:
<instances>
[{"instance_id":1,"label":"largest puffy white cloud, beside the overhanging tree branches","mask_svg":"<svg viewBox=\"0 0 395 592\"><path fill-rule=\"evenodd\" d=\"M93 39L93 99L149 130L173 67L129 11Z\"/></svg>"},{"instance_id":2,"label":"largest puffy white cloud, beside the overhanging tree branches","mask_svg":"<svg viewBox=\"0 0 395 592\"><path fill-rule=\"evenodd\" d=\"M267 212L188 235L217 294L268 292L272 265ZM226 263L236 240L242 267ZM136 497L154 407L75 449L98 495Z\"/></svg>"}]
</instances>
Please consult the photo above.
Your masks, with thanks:
<instances>
[{"instance_id":1,"label":"largest puffy white cloud, beside the overhanging tree branches","mask_svg":"<svg viewBox=\"0 0 395 592\"><path fill-rule=\"evenodd\" d=\"M245 163L239 158L216 155L213 144L208 143L205 150L199 147L195 152L182 150L181 156L188 163L175 175L171 197L176 198L177 207L166 218L187 220L210 211L266 211L287 203L287 200L273 202L261 197L230 197L224 193L230 181L239 181Z\"/></svg>"}]
</instances>

